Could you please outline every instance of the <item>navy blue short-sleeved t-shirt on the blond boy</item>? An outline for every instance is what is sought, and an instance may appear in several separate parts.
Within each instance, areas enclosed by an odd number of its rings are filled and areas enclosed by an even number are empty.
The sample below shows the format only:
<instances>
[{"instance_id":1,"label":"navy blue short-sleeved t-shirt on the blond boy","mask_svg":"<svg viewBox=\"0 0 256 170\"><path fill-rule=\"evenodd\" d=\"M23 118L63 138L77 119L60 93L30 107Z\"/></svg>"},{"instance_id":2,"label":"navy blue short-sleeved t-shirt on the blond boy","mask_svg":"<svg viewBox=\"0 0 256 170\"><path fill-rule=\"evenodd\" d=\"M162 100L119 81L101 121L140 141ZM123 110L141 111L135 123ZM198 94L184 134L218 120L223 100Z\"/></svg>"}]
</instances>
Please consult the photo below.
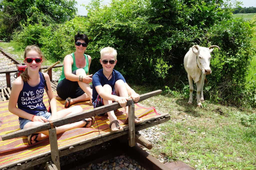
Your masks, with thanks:
<instances>
[{"instance_id":1,"label":"navy blue short-sleeved t-shirt on the blond boy","mask_svg":"<svg viewBox=\"0 0 256 170\"><path fill-rule=\"evenodd\" d=\"M105 84L108 84L111 86L112 91L115 87L115 82L118 80L123 80L124 83L126 83L123 75L119 72L113 69L112 72L112 78L108 80L108 78L103 74L103 69L100 69L92 76L92 102L97 99L98 92L96 91L96 86L101 85L102 87Z\"/></svg>"}]
</instances>

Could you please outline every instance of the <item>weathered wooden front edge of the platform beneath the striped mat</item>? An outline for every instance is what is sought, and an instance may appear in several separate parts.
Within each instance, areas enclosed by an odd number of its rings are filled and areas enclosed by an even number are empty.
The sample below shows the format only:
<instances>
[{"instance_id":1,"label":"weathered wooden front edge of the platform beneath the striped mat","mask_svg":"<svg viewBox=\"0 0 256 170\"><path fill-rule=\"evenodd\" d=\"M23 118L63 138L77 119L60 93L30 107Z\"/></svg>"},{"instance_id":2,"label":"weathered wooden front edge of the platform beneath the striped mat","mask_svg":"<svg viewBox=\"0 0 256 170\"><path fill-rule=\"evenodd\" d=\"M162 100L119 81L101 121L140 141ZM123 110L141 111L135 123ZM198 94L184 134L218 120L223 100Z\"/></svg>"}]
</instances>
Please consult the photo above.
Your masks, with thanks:
<instances>
[{"instance_id":1,"label":"weathered wooden front edge of the platform beneath the striped mat","mask_svg":"<svg viewBox=\"0 0 256 170\"><path fill-rule=\"evenodd\" d=\"M146 107L143 104L140 104L140 105ZM161 124L161 123L164 123L164 122L167 122L167 121L170 120L170 115L169 114L162 113L160 111L157 111L157 112L161 113L162 115L158 115L156 117L153 117L153 118L149 119L150 122L144 122L143 124L136 125L136 130L138 130L138 131L143 130L145 128L152 127L152 126L155 126L155 125L158 125L158 124ZM59 150L61 150L61 152L59 152L59 155L60 155L60 157L65 156L67 154L77 152L77 151L80 151L80 150L83 150L83 149L87 149L87 148L90 148L92 146L99 145L103 142L106 142L106 141L115 139L117 137L126 135L126 134L128 134L127 128L124 128L124 131L119 132L119 133L108 133L108 135L102 135L102 136L98 135L98 136L94 136L94 137L91 137L91 138L88 138L88 139L84 139L83 141L78 141L76 145L61 146L61 147L59 147ZM69 149L71 146L73 146L73 149ZM50 161L51 160L51 155L48 155L48 154L50 154L50 151L46 152L45 154L38 154L38 155L34 155L33 157L20 159L18 161L12 162L12 163L5 164L3 166L0 166L0 169L8 168L9 166L17 165L18 163L22 163L20 166L18 166L19 170L26 169L28 167L35 166L35 165ZM36 159L36 160L29 161L29 160L32 160L32 159ZM27 163L24 163L24 162L27 162ZM14 170L14 169L17 169L17 166L12 167L9 170Z\"/></svg>"}]
</instances>

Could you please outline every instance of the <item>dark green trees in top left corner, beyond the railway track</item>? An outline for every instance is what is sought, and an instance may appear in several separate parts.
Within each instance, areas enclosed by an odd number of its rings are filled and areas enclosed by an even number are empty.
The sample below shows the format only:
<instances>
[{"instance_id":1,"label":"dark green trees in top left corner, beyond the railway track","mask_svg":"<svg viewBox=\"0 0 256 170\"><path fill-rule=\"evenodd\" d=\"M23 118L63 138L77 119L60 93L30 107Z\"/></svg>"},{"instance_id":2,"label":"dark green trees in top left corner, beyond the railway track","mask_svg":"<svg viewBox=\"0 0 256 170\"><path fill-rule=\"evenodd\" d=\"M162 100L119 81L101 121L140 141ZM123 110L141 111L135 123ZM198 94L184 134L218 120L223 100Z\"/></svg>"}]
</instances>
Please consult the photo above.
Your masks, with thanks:
<instances>
[{"instance_id":1,"label":"dark green trees in top left corner, beyond the railway track","mask_svg":"<svg viewBox=\"0 0 256 170\"><path fill-rule=\"evenodd\" d=\"M10 40L10 34L21 24L61 23L76 14L75 0L19 0L0 1L0 38Z\"/></svg>"}]
</instances>

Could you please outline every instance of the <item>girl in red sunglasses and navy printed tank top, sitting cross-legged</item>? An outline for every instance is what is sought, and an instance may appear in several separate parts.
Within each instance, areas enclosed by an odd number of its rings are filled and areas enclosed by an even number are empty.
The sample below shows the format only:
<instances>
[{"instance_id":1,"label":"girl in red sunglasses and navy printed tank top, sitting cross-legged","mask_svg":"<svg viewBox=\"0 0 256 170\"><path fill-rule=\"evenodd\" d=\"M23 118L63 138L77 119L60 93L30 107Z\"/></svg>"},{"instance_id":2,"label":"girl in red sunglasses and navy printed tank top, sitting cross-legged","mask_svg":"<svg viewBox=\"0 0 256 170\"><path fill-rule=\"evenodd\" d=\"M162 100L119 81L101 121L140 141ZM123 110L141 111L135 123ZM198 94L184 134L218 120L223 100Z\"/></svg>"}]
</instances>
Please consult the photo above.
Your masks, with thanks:
<instances>
[{"instance_id":1,"label":"girl in red sunglasses and navy printed tank top, sitting cross-legged","mask_svg":"<svg viewBox=\"0 0 256 170\"><path fill-rule=\"evenodd\" d=\"M74 106L57 112L56 99L51 89L49 75L40 72L42 60L44 60L44 56L38 46L27 46L24 53L24 63L27 68L12 85L8 109L11 113L19 116L20 129L43 124L47 121L82 111L80 106ZM45 83L48 89L45 88ZM51 113L47 111L43 103L44 90L47 90ZM91 117L79 122L56 127L56 131L59 134L77 127L89 127L93 123L94 118ZM31 145L48 136L48 130L31 134L28 136L28 144Z\"/></svg>"}]
</instances>

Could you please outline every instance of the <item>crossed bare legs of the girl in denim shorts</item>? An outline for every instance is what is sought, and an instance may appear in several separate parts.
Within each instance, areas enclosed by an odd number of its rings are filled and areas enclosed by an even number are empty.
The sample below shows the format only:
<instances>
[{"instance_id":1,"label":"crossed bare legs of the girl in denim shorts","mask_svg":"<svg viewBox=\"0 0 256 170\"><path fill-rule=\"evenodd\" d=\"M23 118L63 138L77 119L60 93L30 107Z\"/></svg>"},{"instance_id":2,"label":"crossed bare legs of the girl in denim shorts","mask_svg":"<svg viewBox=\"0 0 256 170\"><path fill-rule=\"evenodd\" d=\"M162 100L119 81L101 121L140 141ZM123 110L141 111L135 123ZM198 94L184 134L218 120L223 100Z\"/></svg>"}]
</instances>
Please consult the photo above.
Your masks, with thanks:
<instances>
[{"instance_id":1,"label":"crossed bare legs of the girl in denim shorts","mask_svg":"<svg viewBox=\"0 0 256 170\"><path fill-rule=\"evenodd\" d=\"M74 107L70 107L68 109L60 110L57 112L57 119L66 117L68 115L77 114L82 111L83 111L83 109L80 106L74 106ZM91 121L91 118L88 118L86 120ZM38 121L37 122L29 122L24 126L24 128L32 127L32 126L39 125L39 124L42 124L42 122L38 122ZM62 125L62 126L56 127L56 133L59 134L59 133L65 132L67 130L71 130L71 129L78 128L78 127L83 127L83 126L85 126L85 124L86 124L86 122L79 121L79 122L74 122L71 124ZM48 130L39 132L37 140L40 141L48 136L49 136ZM34 141L35 137L36 137L35 135L31 137L32 143L35 143L35 141Z\"/></svg>"}]
</instances>

